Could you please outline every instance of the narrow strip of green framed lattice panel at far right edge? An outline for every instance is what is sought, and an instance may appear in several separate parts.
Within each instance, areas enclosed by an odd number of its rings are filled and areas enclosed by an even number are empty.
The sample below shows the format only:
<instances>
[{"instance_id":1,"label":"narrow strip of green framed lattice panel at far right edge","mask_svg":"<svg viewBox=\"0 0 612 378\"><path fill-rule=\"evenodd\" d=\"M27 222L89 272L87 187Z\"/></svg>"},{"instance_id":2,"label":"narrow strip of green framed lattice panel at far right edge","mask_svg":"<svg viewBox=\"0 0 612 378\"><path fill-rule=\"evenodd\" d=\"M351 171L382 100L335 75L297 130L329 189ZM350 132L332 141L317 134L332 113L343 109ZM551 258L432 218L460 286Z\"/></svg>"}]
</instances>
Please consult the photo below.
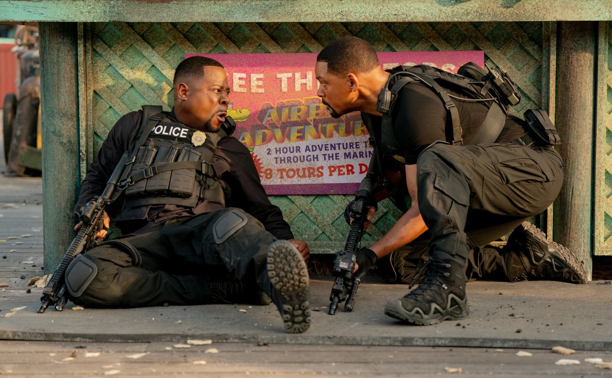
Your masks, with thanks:
<instances>
[{"instance_id":1,"label":"narrow strip of green framed lattice panel at far right edge","mask_svg":"<svg viewBox=\"0 0 612 378\"><path fill-rule=\"evenodd\" d=\"M600 23L599 34L594 252L612 255L612 23Z\"/></svg>"}]
</instances>

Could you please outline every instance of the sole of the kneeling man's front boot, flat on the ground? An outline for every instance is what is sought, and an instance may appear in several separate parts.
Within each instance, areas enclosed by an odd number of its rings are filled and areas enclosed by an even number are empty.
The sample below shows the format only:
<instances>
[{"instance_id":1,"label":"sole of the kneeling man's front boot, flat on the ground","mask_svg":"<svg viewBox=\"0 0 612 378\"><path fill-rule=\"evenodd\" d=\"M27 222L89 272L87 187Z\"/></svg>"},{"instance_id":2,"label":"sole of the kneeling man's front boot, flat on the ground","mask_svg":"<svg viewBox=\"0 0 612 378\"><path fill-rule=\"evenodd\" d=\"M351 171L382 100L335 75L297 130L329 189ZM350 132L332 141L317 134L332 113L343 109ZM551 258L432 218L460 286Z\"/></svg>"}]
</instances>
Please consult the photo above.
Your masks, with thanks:
<instances>
[{"instance_id":1,"label":"sole of the kneeling man's front boot, flat on the ground","mask_svg":"<svg viewBox=\"0 0 612 378\"><path fill-rule=\"evenodd\" d=\"M453 306L453 301L457 303L457 305ZM401 299L394 299L387 302L384 313L399 321L417 325L434 325L442 321L454 321L469 317L468 302L466 300L461 300L456 295L449 294L446 308L447 309L444 310L436 303L432 303L429 314L425 314L419 307L412 309L412 311L408 311L401 305ZM449 314L449 309L458 310L461 312L461 315Z\"/></svg>"}]
</instances>

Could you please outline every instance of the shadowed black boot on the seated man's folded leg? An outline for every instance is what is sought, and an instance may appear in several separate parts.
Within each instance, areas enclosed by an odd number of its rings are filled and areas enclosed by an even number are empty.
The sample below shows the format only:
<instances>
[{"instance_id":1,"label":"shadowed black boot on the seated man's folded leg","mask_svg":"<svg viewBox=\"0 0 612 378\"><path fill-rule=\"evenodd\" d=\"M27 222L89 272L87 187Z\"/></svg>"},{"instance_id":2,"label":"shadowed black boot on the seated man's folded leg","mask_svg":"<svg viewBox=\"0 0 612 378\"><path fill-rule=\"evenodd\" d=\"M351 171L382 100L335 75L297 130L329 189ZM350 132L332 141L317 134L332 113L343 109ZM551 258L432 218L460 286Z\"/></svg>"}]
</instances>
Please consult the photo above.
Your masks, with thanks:
<instances>
[{"instance_id":1,"label":"shadowed black boot on the seated man's folded leg","mask_svg":"<svg viewBox=\"0 0 612 378\"><path fill-rule=\"evenodd\" d=\"M266 293L259 291L255 285L248 287L246 284L235 279L211 280L209 286L211 290L211 303L247 303L248 305L261 306L272 303L272 299Z\"/></svg>"}]
</instances>

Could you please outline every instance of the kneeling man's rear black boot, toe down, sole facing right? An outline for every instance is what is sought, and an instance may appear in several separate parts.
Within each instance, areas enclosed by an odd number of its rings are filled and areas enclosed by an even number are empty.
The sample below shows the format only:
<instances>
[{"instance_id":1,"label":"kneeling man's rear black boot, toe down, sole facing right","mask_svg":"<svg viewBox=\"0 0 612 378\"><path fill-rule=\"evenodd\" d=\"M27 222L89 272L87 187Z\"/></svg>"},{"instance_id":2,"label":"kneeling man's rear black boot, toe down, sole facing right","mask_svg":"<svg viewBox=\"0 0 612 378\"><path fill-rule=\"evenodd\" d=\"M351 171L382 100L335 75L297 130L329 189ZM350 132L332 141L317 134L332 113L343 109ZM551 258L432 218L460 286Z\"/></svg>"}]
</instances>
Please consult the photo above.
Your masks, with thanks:
<instances>
[{"instance_id":1,"label":"kneeling man's rear black boot, toe down, sole facing right","mask_svg":"<svg viewBox=\"0 0 612 378\"><path fill-rule=\"evenodd\" d=\"M586 272L575 254L528 221L518 226L504 247L509 281L558 280L583 284Z\"/></svg>"}]
</instances>

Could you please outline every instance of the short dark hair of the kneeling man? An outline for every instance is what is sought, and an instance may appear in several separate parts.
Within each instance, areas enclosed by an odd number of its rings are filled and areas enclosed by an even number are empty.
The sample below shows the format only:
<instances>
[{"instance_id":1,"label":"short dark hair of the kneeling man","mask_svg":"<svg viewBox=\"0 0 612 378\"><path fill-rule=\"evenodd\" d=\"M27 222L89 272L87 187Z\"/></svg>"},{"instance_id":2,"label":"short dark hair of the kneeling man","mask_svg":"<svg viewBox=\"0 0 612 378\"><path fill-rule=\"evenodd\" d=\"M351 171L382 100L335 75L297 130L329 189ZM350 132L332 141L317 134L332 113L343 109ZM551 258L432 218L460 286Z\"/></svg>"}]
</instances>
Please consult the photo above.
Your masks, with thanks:
<instances>
[{"instance_id":1,"label":"short dark hair of the kneeling man","mask_svg":"<svg viewBox=\"0 0 612 378\"><path fill-rule=\"evenodd\" d=\"M379 65L376 51L359 37L342 37L327 45L316 56L317 62L327 63L327 72L346 75L349 72L368 72Z\"/></svg>"}]
</instances>

